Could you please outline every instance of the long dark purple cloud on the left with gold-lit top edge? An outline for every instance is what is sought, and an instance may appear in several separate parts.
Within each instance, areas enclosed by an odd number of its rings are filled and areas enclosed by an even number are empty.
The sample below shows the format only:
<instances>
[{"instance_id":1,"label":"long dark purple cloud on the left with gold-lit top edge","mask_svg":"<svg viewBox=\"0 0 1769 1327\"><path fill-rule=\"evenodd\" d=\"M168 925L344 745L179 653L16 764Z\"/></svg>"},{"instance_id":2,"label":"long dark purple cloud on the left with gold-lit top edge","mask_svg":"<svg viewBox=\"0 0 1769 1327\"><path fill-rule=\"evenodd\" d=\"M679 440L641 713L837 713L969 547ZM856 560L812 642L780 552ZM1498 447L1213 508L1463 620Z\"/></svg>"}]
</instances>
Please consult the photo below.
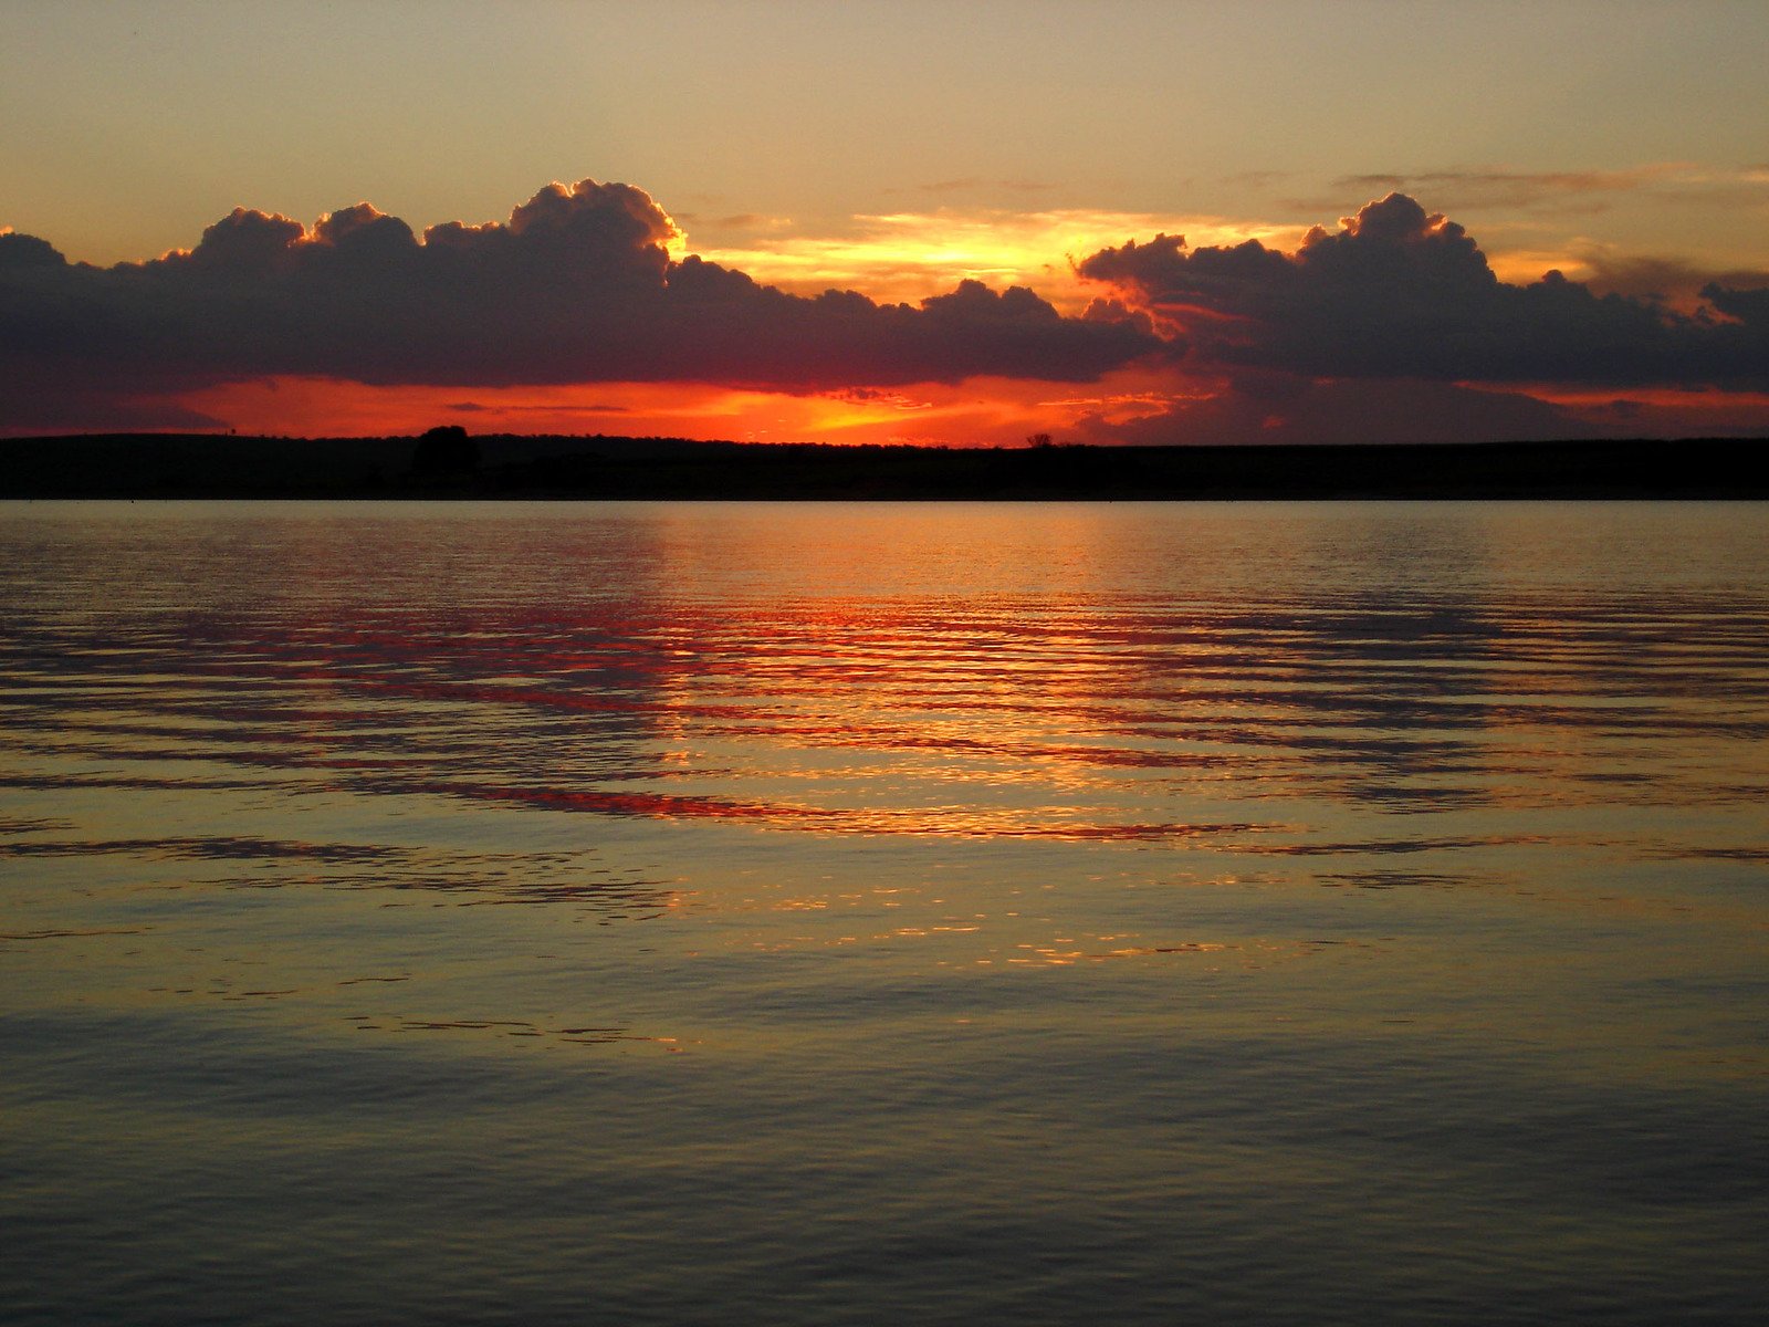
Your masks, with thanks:
<instances>
[{"instance_id":1,"label":"long dark purple cloud on the left with gold-lit top edge","mask_svg":"<svg viewBox=\"0 0 1769 1327\"><path fill-rule=\"evenodd\" d=\"M964 281L920 304L793 295L695 257L642 189L552 184L504 223L412 228L368 203L313 228L235 209L189 251L69 264L0 235L0 372L32 395L126 402L274 375L364 384L693 380L777 391L1084 382L1153 349ZM11 402L11 403L9 403ZM0 398L0 425L19 414Z\"/></svg>"}]
</instances>

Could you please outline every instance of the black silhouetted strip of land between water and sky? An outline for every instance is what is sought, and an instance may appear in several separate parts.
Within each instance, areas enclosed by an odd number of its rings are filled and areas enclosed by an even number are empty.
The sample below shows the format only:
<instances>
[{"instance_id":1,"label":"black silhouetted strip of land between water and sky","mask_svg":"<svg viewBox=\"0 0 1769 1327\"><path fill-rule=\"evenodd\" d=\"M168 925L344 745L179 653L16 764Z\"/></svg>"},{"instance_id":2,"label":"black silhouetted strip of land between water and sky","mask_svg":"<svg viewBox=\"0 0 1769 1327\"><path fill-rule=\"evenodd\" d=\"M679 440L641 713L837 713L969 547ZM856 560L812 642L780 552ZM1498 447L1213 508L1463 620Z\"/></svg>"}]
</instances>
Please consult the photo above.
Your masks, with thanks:
<instances>
[{"instance_id":1,"label":"black silhouetted strip of land between water and sky","mask_svg":"<svg viewBox=\"0 0 1769 1327\"><path fill-rule=\"evenodd\" d=\"M0 497L1493 499L1769 497L1769 439L913 448L660 437L0 439Z\"/></svg>"}]
</instances>

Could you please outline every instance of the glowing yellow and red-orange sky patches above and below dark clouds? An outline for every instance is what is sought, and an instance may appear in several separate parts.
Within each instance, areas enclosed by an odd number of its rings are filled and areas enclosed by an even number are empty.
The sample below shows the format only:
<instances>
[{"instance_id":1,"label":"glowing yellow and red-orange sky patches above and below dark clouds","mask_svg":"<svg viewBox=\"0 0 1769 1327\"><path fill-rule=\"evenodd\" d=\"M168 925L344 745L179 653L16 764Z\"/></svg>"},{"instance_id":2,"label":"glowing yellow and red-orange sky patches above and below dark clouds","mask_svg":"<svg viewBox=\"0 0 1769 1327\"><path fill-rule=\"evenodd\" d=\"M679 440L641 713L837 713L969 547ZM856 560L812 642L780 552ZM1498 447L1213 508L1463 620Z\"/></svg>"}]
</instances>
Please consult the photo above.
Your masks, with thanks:
<instances>
[{"instance_id":1,"label":"glowing yellow and red-orange sky patches above and below dark clouds","mask_svg":"<svg viewBox=\"0 0 1769 1327\"><path fill-rule=\"evenodd\" d=\"M1346 225L1346 221L1341 221ZM1031 285L1068 317L1102 297L1127 292L1083 278L1086 255L1127 235L1185 234L1191 248L1258 241L1297 251L1307 228L1237 223L1219 216L1116 212L953 212L854 218L842 237L810 239L757 225L747 246L708 249L701 257L782 290L816 295L858 288L876 301L916 303L964 280L992 287ZM679 225L669 237L674 260L695 253ZM1495 276L1527 285L1550 269L1601 288L1604 257L1560 249L1518 249L1489 260ZM1693 288L1668 295L1689 311L1702 301ZM1132 297L1134 303L1134 297ZM1169 334L1212 320L1208 308L1157 313ZM1702 386L1606 389L1555 382L1491 384L1459 380L1477 400L1525 400L1557 412L1569 433L1700 435L1753 433L1769 428L1769 393L1714 391ZM1060 441L1185 441L1183 423L1199 421L1199 441L1221 441L1221 416L1237 409L1231 377L1208 364L1145 363L1111 370L1095 382L1047 382L1022 377L969 377L957 384L911 382L890 387L770 391L708 382L518 384L518 386L368 386L345 377L249 377L177 395L177 403L251 433L373 435L417 432L455 421L494 433L626 433L754 442L821 441L835 444L1017 446L1033 433ZM1316 393L1318 396L1320 393ZM1283 409L1252 425L1251 437L1283 437ZM1175 426L1178 421L1178 426ZM1120 432L1139 425L1141 439ZM1231 433L1245 439L1249 433ZM1428 433L1429 435L1429 433Z\"/></svg>"}]
</instances>

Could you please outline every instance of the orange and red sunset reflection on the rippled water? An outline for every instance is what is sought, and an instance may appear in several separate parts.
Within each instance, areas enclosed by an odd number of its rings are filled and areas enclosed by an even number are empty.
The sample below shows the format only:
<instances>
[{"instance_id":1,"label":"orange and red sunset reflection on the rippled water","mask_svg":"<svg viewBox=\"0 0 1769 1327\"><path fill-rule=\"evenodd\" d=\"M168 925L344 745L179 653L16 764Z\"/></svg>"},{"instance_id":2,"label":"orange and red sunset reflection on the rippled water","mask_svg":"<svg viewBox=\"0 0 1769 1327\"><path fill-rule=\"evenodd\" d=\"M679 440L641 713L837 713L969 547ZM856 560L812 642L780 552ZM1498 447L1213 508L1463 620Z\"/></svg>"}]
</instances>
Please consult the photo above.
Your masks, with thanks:
<instances>
[{"instance_id":1,"label":"orange and red sunset reflection on the rippled water","mask_svg":"<svg viewBox=\"0 0 1769 1327\"><path fill-rule=\"evenodd\" d=\"M1727 596L1631 596L1596 517L1578 543L1512 510L1353 515L1302 522L1245 594L1260 511L591 508L545 564L504 513L410 568L389 518L294 522L253 559L299 582L182 621L165 713L53 743L338 796L1267 858L1573 844L1534 812L1762 777L1734 713L1760 623ZM1670 741L1704 773L1643 777ZM1445 819L1481 809L1525 819Z\"/></svg>"}]
</instances>

